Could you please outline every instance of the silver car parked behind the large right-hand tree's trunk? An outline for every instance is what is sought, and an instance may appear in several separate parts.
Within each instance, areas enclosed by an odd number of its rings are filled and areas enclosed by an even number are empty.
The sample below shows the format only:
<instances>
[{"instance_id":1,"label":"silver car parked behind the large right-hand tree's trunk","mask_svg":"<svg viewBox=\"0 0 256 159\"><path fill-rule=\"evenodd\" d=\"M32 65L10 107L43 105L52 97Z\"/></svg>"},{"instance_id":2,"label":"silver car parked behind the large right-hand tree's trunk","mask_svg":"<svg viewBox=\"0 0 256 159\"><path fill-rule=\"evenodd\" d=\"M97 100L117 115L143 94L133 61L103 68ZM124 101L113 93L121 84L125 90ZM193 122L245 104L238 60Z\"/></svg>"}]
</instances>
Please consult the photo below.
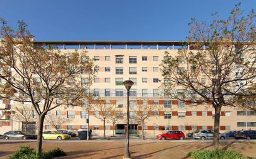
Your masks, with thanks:
<instances>
[{"instance_id":1,"label":"silver car parked behind the large right-hand tree's trunk","mask_svg":"<svg viewBox=\"0 0 256 159\"><path fill-rule=\"evenodd\" d=\"M211 129L205 129L205 130L199 130L195 131L193 134L194 139L213 139L213 130ZM224 140L226 139L225 134L219 133L219 139Z\"/></svg>"}]
</instances>

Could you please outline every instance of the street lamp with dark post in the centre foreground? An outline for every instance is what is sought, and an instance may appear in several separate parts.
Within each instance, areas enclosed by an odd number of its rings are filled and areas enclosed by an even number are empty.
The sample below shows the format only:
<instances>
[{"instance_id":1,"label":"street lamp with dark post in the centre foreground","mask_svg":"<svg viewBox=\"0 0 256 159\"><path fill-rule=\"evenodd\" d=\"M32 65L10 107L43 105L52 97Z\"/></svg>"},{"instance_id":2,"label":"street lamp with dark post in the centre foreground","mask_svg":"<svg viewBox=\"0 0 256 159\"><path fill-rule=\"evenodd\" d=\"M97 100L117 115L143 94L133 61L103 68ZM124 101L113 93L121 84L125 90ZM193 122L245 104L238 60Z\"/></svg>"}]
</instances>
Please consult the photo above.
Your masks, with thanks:
<instances>
[{"instance_id":1,"label":"street lamp with dark post in the centre foreground","mask_svg":"<svg viewBox=\"0 0 256 159\"><path fill-rule=\"evenodd\" d=\"M122 84L126 87L127 90L127 109L126 109L126 152L124 153L124 157L123 159L128 159L131 158L130 157L130 152L129 152L129 96L130 96L130 88L132 87L132 85L134 84L134 82L132 82L131 80L125 80L124 82L122 82Z\"/></svg>"}]
</instances>

